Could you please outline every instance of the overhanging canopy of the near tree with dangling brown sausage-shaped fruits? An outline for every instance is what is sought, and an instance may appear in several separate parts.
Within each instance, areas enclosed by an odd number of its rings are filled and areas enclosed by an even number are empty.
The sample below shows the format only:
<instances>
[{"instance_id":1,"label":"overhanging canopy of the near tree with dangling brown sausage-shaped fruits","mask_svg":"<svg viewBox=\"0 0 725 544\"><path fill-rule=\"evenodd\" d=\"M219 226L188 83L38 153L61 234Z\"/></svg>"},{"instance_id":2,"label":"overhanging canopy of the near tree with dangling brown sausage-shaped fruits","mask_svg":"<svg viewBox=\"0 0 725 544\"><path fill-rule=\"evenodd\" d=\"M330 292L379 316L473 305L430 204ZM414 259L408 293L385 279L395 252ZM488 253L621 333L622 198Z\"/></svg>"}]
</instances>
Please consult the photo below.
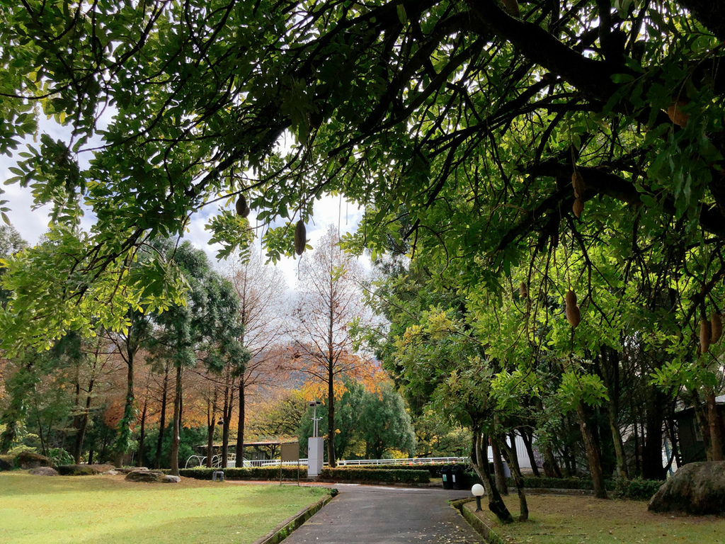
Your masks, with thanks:
<instances>
[{"instance_id":1,"label":"overhanging canopy of the near tree with dangling brown sausage-shaped fruits","mask_svg":"<svg viewBox=\"0 0 725 544\"><path fill-rule=\"evenodd\" d=\"M38 204L51 202L58 234L54 255L30 250L9 263L4 328L58 334L67 319L48 316L38 287L58 304L119 292L149 304L165 275L128 274L138 246L181 234L191 213L238 194L262 223L287 222L265 231L273 258L291 254L289 225L306 221L316 198L341 193L366 209L351 246L405 238L463 281L493 271L489 284L562 236L582 250L607 244L655 274L687 268L687 252L705 247L709 264L691 271L702 284L695 308L722 270L723 7L504 4L2 7L0 151L36 133L43 113L72 127L67 141L41 135L12 170ZM276 147L286 131L294 145ZM585 184L576 201L575 171ZM78 238L67 233L82 205L97 221ZM248 239L231 210L210 228L224 252ZM53 273L38 284L29 265Z\"/></svg>"}]
</instances>

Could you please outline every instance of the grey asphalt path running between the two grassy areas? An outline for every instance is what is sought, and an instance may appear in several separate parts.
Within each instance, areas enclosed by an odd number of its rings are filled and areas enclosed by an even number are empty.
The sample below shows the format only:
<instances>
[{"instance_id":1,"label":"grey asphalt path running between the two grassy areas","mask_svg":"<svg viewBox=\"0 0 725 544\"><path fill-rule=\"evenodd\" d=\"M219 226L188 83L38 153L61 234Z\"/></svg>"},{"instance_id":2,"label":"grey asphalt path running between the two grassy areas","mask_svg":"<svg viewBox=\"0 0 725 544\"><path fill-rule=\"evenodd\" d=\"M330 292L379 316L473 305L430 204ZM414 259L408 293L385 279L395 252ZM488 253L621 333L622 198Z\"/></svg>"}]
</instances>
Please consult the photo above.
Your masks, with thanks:
<instances>
[{"instance_id":1,"label":"grey asphalt path running between the two grassy areas","mask_svg":"<svg viewBox=\"0 0 725 544\"><path fill-rule=\"evenodd\" d=\"M448 500L465 491L335 485L327 506L284 544L481 543Z\"/></svg>"}]
</instances>

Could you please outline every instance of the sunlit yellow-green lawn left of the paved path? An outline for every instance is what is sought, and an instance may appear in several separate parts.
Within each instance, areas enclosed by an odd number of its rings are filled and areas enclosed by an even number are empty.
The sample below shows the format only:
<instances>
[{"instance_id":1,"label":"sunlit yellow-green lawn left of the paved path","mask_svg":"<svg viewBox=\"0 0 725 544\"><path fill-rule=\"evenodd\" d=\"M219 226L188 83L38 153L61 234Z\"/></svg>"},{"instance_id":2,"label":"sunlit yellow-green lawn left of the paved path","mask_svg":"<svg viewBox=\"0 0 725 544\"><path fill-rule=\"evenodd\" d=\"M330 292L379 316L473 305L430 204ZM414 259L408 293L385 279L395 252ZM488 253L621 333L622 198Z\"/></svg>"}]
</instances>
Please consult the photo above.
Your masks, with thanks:
<instances>
[{"instance_id":1,"label":"sunlit yellow-green lawn left of the paved path","mask_svg":"<svg viewBox=\"0 0 725 544\"><path fill-rule=\"evenodd\" d=\"M0 543L252 543L327 490L0 472Z\"/></svg>"}]
</instances>

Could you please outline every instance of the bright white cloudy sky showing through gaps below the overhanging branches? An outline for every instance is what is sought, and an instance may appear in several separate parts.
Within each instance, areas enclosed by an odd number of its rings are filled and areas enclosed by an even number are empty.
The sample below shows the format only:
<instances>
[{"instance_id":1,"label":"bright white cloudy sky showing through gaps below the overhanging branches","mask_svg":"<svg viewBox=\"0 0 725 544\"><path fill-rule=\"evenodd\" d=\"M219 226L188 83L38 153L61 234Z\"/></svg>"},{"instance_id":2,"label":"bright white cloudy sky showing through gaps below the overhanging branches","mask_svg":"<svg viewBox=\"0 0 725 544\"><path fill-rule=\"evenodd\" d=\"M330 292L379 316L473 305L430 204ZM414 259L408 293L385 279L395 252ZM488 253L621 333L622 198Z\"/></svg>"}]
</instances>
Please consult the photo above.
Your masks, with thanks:
<instances>
[{"instance_id":1,"label":"bright white cloudy sky showing through gaps below the overhanging branches","mask_svg":"<svg viewBox=\"0 0 725 544\"><path fill-rule=\"evenodd\" d=\"M54 139L65 139L68 129L54 123L42 123L42 131L48 133ZM22 151L24 146L17 149ZM0 180L5 181L13 176L8 170L13 166L15 160L6 156L0 156ZM81 165L83 168L83 165ZM22 237L30 244L38 242L39 237L46 232L48 228L49 206L41 207L33 210L33 197L30 189L23 189L17 184L4 185L5 194L0 199L9 200L11 210L7 213L12 226L17 228ZM209 244L210 233L204 230L209 218L220 210L219 205L212 204L204 207L191 218L188 226L188 232L184 235L184 239L188 239L195 247L204 250L209 255L212 262L216 262L216 252L219 247ZM362 217L362 210L357 205L349 204L340 197L323 197L323 199L315 202L315 215L307 224L307 238L310 245L315 247L320 237L325 233L328 225L339 227L340 234L353 231L357 227L357 223ZM93 221L92 215L88 214L83 218L83 228L88 229ZM252 227L261 225L257 224L254 216L254 210L249 215L249 223ZM261 231L261 228L257 228ZM257 241L257 250L261 251L259 241ZM369 260L363 257L363 265L370 268ZM223 261L219 263L223 268ZM277 265L285 274L288 287L294 289L297 277L297 261L291 258L284 258Z\"/></svg>"}]
</instances>

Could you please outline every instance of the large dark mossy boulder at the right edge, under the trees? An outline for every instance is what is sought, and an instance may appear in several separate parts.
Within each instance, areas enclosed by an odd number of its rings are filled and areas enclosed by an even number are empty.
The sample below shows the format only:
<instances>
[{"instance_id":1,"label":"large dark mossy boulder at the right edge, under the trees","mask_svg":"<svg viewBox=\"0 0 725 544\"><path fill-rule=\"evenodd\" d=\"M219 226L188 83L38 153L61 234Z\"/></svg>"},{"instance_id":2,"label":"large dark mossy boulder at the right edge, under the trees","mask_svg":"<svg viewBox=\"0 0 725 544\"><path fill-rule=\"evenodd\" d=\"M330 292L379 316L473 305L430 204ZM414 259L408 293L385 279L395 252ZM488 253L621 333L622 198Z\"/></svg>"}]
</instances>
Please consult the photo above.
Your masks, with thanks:
<instances>
[{"instance_id":1,"label":"large dark mossy boulder at the right edge, under the trees","mask_svg":"<svg viewBox=\"0 0 725 544\"><path fill-rule=\"evenodd\" d=\"M653 512L725 514L725 461L689 463L650 499Z\"/></svg>"}]
</instances>

